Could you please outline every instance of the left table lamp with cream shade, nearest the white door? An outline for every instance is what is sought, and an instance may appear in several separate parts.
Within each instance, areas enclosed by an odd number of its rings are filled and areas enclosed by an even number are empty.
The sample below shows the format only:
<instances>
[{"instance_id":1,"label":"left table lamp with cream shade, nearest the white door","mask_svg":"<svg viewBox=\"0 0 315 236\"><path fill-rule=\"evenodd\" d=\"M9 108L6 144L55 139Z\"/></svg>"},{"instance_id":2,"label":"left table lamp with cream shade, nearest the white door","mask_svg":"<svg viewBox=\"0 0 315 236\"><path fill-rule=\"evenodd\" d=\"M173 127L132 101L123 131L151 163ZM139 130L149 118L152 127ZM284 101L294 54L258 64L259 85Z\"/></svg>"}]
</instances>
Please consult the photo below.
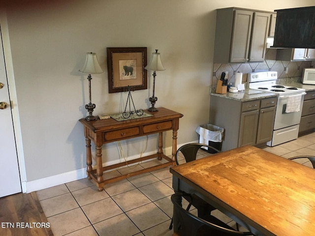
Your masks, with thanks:
<instances>
[{"instance_id":1,"label":"left table lamp with cream shade, nearest the white door","mask_svg":"<svg viewBox=\"0 0 315 236\"><path fill-rule=\"evenodd\" d=\"M100 74L103 73L103 70L100 68L97 58L96 58L96 53L87 53L87 57L85 59L85 63L79 70L82 73L89 74L88 75L88 80L89 80L89 104L85 105L85 109L88 110L89 116L87 116L85 119L86 120L95 120L97 119L95 116L93 116L93 111L95 109L95 104L92 103L91 101L91 80L92 76L91 74Z\"/></svg>"}]
</instances>

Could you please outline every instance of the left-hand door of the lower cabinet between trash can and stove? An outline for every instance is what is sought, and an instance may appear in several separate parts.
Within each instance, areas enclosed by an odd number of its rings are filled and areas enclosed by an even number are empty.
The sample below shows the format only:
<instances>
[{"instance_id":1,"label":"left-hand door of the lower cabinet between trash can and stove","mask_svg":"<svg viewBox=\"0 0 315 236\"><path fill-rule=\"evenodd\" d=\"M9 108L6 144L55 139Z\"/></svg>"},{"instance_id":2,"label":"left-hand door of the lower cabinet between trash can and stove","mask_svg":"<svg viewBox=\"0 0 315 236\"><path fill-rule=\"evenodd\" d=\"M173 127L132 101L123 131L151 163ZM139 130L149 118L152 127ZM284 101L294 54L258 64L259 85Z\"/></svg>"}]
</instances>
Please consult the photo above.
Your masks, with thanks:
<instances>
[{"instance_id":1,"label":"left-hand door of the lower cabinet between trash can and stove","mask_svg":"<svg viewBox=\"0 0 315 236\"><path fill-rule=\"evenodd\" d=\"M243 112L241 114L240 137L238 147L255 145L259 112Z\"/></svg>"}]
</instances>

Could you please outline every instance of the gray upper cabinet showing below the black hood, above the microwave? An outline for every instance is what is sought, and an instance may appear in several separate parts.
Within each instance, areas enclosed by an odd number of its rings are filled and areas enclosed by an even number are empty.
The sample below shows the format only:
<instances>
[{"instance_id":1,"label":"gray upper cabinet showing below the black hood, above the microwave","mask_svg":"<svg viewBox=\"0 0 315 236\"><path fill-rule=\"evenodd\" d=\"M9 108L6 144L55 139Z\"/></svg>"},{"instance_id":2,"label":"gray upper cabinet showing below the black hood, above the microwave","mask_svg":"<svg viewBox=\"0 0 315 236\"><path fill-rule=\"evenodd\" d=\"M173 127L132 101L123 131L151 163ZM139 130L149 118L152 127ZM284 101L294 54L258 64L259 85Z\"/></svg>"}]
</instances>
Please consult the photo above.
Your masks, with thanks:
<instances>
[{"instance_id":1,"label":"gray upper cabinet showing below the black hood, above the microwave","mask_svg":"<svg viewBox=\"0 0 315 236\"><path fill-rule=\"evenodd\" d=\"M314 60L315 49L308 48L280 48L277 49L276 60Z\"/></svg>"}]
</instances>

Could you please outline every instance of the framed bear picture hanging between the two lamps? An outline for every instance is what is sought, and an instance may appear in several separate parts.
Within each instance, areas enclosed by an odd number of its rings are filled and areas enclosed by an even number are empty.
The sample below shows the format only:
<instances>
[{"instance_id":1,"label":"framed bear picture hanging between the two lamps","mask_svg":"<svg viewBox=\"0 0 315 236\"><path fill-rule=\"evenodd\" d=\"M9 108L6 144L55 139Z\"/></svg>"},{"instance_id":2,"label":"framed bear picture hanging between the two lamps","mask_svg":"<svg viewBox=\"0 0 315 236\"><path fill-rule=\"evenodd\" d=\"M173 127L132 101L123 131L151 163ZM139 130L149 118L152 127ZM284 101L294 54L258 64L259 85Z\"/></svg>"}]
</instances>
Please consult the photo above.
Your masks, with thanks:
<instances>
[{"instance_id":1,"label":"framed bear picture hanging between the two lamps","mask_svg":"<svg viewBox=\"0 0 315 236\"><path fill-rule=\"evenodd\" d=\"M107 48L108 91L147 89L147 48Z\"/></svg>"}]
</instances>

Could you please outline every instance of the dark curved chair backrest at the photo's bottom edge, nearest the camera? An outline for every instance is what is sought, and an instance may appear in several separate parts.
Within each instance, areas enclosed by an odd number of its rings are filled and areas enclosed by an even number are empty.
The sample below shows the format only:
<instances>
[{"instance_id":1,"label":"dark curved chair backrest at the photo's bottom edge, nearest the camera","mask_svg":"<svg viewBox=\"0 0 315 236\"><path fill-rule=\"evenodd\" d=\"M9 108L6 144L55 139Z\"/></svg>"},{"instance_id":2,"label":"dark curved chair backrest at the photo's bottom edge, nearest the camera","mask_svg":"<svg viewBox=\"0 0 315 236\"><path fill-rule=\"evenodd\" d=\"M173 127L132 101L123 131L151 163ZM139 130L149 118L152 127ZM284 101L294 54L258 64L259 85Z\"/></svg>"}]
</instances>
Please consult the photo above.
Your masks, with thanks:
<instances>
[{"instance_id":1,"label":"dark curved chair backrest at the photo's bottom edge, nearest the camera","mask_svg":"<svg viewBox=\"0 0 315 236\"><path fill-rule=\"evenodd\" d=\"M240 232L240 231L231 230L231 229L228 229L227 225L226 225L227 228L224 228L222 226L203 220L199 218L198 216L191 214L189 211L185 210L176 202L175 195L176 194L173 194L171 196L171 201L174 205L174 211L176 213L176 216L179 219L179 224L180 224L177 229L178 232L176 232L177 235L180 235L180 236L252 235L251 232ZM222 222L222 224L224 223ZM174 230L176 229L174 228Z\"/></svg>"}]
</instances>

